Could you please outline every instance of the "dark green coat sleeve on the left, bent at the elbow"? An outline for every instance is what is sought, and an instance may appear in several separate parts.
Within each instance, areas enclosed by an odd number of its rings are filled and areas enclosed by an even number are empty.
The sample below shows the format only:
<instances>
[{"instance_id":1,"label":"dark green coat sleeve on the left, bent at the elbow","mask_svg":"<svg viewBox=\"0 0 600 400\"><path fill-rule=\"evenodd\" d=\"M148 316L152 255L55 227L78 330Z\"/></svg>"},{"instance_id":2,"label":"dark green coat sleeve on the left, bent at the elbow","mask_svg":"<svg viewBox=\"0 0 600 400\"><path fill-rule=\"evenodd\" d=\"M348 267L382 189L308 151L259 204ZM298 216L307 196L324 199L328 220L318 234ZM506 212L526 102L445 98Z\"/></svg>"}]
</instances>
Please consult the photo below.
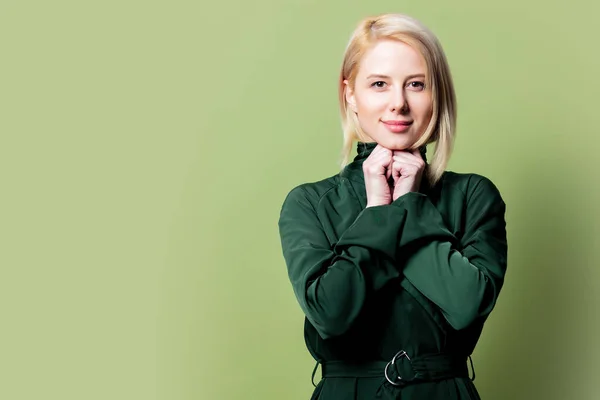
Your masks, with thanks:
<instances>
[{"instance_id":1,"label":"dark green coat sleeve on the left, bent at the elbow","mask_svg":"<svg viewBox=\"0 0 600 400\"><path fill-rule=\"evenodd\" d=\"M395 260L405 214L365 208L332 246L307 192L288 194L279 217L283 256L296 298L322 338L345 333L370 294L401 276Z\"/></svg>"}]
</instances>

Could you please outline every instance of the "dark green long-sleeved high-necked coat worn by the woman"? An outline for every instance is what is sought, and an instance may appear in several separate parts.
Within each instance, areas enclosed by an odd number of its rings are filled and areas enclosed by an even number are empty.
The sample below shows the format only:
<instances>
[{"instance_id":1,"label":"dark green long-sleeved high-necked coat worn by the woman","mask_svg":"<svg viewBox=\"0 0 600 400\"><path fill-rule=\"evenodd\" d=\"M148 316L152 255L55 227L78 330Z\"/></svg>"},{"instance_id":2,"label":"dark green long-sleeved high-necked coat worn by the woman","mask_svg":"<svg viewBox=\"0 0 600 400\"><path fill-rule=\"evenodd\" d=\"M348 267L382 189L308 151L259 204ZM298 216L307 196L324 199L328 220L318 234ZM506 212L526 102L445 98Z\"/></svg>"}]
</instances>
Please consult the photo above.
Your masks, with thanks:
<instances>
[{"instance_id":1,"label":"dark green long-sleeved high-necked coat worn by the woman","mask_svg":"<svg viewBox=\"0 0 600 400\"><path fill-rule=\"evenodd\" d=\"M446 171L433 187L424 179L418 193L365 208L362 163L375 146L358 143L340 174L294 187L281 208L308 350L320 363L385 365L404 350L411 360L460 354L465 366L504 281L505 203L489 179ZM413 366L401 364L406 376ZM394 386L376 371L323 378L312 399L479 399L469 377Z\"/></svg>"}]
</instances>

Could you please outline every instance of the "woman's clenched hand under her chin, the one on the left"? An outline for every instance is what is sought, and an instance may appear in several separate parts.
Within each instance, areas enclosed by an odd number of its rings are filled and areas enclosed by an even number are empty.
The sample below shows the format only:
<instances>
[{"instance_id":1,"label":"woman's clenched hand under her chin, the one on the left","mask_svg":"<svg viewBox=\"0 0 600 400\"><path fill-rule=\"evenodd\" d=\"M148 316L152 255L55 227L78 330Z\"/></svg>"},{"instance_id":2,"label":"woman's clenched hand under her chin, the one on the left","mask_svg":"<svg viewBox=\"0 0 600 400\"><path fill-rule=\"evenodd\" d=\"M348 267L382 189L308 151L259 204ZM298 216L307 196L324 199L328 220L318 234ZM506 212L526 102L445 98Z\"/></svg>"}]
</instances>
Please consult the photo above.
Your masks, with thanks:
<instances>
[{"instance_id":1,"label":"woman's clenched hand under her chin, the one on the left","mask_svg":"<svg viewBox=\"0 0 600 400\"><path fill-rule=\"evenodd\" d=\"M377 145L363 162L367 207L381 206L392 202L392 191L388 179L392 174L393 152Z\"/></svg>"}]
</instances>

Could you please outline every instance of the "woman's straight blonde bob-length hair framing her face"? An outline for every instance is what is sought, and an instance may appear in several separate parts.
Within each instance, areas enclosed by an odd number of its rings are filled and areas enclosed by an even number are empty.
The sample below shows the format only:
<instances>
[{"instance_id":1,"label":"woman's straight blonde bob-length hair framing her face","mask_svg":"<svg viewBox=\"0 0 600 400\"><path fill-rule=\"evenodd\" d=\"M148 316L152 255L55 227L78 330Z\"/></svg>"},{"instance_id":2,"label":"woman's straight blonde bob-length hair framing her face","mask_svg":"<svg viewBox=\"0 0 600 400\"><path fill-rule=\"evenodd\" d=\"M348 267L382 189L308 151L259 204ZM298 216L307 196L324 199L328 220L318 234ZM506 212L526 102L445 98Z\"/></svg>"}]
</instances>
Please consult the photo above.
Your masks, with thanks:
<instances>
[{"instance_id":1,"label":"woman's straight blonde bob-length hair framing her face","mask_svg":"<svg viewBox=\"0 0 600 400\"><path fill-rule=\"evenodd\" d=\"M446 55L436 36L422 23L402 14L382 14L362 20L353 32L344 53L339 80L339 103L344 141L341 166L350 159L354 141L366 141L356 114L346 102L346 85L354 88L360 61L381 39L394 39L418 50L427 65L426 85L431 87L433 112L429 125L414 144L418 148L435 142L435 152L427 168L427 178L435 184L444 173L454 145L456 128L456 94Z\"/></svg>"}]
</instances>

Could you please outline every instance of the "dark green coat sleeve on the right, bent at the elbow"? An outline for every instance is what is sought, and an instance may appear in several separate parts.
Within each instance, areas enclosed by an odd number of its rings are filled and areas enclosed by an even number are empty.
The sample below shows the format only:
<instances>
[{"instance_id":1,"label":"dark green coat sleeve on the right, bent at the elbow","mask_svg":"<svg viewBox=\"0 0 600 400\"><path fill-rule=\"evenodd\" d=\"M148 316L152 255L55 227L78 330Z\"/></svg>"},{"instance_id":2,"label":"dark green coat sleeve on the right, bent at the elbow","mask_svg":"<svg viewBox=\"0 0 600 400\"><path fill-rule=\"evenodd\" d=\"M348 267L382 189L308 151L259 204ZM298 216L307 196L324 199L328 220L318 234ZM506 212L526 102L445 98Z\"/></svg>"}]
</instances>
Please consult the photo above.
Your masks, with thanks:
<instances>
[{"instance_id":1,"label":"dark green coat sleeve on the right, bent at the elbow","mask_svg":"<svg viewBox=\"0 0 600 400\"><path fill-rule=\"evenodd\" d=\"M392 203L411 216L406 232L421 237L404 263L404 276L457 330L492 311L506 273L506 205L494 184L480 178L467 193L460 240L443 228L427 196L408 193ZM439 234L427 238L424 226L440 227Z\"/></svg>"}]
</instances>

